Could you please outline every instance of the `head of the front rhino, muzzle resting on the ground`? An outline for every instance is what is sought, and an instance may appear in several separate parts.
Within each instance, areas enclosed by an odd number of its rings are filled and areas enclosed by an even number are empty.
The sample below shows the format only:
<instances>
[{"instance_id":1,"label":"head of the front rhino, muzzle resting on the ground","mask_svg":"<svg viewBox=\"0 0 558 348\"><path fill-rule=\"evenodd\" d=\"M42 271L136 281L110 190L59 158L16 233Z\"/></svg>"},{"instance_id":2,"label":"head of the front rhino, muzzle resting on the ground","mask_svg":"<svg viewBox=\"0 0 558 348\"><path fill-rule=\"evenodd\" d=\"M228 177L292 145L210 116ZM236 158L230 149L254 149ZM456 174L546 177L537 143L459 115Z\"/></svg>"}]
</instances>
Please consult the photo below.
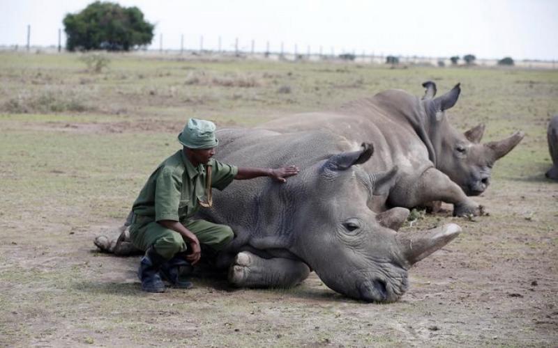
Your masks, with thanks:
<instances>
[{"instance_id":1,"label":"head of the front rhino, muzzle resting on the ground","mask_svg":"<svg viewBox=\"0 0 558 348\"><path fill-rule=\"evenodd\" d=\"M359 164L372 155L371 145L320 161L299 174L303 203L296 209L298 255L331 289L354 299L397 301L407 290L407 271L446 245L460 232L450 224L425 232L397 232L405 208L376 214L368 204L395 183L397 168L367 173ZM311 194L308 190L312 190Z\"/></svg>"}]
</instances>

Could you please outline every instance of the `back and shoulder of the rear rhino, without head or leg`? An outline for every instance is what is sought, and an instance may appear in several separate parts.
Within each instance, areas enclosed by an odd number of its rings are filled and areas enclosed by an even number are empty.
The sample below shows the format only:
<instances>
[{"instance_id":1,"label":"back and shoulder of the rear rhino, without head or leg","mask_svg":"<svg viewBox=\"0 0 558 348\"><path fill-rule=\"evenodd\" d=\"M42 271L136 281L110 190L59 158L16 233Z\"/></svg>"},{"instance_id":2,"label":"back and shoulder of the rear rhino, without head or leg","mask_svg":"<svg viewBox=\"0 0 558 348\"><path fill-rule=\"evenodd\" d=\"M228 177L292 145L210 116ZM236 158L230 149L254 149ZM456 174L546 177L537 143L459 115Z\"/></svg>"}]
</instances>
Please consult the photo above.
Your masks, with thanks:
<instances>
[{"instance_id":1,"label":"back and shoulder of the rear rhino, without head or leg","mask_svg":"<svg viewBox=\"0 0 558 348\"><path fill-rule=\"evenodd\" d=\"M411 175L432 166L428 148L417 135L420 104L401 90L347 103L334 111L300 113L267 122L262 128L276 132L327 129L353 141L370 142L375 155L365 164L369 171L385 171L397 165Z\"/></svg>"}]
</instances>

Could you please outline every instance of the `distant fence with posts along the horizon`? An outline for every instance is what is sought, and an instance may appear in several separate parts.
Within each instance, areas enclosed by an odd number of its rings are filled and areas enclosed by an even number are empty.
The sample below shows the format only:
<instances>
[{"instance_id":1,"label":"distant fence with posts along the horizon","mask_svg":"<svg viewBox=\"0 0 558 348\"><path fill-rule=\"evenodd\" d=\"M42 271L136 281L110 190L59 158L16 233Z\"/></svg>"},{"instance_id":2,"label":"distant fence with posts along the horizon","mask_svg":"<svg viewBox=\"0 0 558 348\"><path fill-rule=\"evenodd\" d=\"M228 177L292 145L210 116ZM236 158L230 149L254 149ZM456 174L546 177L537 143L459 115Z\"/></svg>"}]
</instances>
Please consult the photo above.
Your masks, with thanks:
<instances>
[{"instance_id":1,"label":"distant fence with posts along the horizon","mask_svg":"<svg viewBox=\"0 0 558 348\"><path fill-rule=\"evenodd\" d=\"M0 46L1 51L15 51L15 52L44 52L44 53L56 53L56 52L66 52L66 49L62 45L62 29L58 29L58 45L50 45L47 47L31 46L31 26L27 26L27 44L24 46L20 45L3 45ZM319 46L318 52L312 51L311 46L306 46L306 51L299 51L299 45L295 44L294 49L289 51L285 49L285 43L280 42L280 49L278 51L272 51L270 49L270 42L266 42L265 51L257 51L255 49L255 40L250 41L250 49L246 47L239 47L239 38L234 40L234 48L223 49L223 40L221 36L218 37L218 47L217 49L206 49L204 48L204 36L199 36L199 49L186 48L184 46L184 35L181 34L180 37L180 48L179 49L165 49L163 47L163 33L158 35L158 49L143 47L134 52L139 52L140 54L147 55L167 55L174 54L179 56L234 56L239 58L258 58L258 59L271 59L276 61L354 61L356 63L375 63L383 64L386 63L386 58L388 56L398 58L398 63L400 65L434 65L434 66L452 66L451 59L449 57L430 57L430 56L403 56L400 54L367 54L365 51L361 54L357 54L356 50L347 51L341 49L339 54L335 54L335 47L330 47L328 52L324 52L323 46ZM152 46L155 46L152 45ZM232 46L232 45L231 45ZM512 57L513 58L513 57ZM498 59L486 59L486 58L476 58L474 61L476 65L481 66L495 66L498 65ZM514 64L518 68L535 68L535 69L556 69L556 61L541 61L541 60L514 60ZM465 64L459 64L465 65Z\"/></svg>"}]
</instances>

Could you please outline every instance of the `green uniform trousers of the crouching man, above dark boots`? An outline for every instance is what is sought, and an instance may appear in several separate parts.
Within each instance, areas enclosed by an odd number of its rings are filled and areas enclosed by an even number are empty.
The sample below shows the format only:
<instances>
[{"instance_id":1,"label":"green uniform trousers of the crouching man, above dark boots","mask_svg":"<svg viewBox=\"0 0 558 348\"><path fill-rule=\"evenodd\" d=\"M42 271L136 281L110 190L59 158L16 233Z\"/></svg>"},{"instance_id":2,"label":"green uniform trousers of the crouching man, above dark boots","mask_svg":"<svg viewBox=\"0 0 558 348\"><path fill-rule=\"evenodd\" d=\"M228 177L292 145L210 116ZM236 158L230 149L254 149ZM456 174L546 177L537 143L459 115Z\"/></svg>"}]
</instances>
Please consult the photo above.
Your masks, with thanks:
<instances>
[{"instance_id":1,"label":"green uniform trousers of the crouching man, above dark boots","mask_svg":"<svg viewBox=\"0 0 558 348\"><path fill-rule=\"evenodd\" d=\"M138 219L130 226L130 239L136 248L147 250L154 246L157 253L170 260L174 254L186 251L186 242L179 232L164 228L152 219L137 216ZM218 225L205 220L188 220L182 223L199 240L215 251L220 251L234 237L229 226Z\"/></svg>"}]
</instances>

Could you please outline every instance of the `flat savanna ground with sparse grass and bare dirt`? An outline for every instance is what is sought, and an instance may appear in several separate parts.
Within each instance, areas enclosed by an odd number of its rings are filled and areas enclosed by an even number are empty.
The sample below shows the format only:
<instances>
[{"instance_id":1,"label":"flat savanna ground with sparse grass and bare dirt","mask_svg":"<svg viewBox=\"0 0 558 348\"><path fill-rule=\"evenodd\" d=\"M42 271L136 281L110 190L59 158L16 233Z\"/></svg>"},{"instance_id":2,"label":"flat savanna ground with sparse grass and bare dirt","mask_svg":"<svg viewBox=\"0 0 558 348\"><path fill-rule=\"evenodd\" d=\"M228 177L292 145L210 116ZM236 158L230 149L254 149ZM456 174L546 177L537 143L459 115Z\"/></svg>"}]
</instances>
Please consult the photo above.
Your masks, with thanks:
<instances>
[{"instance_id":1,"label":"flat savanna ground with sparse grass and bare dirt","mask_svg":"<svg viewBox=\"0 0 558 348\"><path fill-rule=\"evenodd\" d=\"M558 342L558 184L545 128L558 113L558 72L389 69L112 55L94 73L77 55L0 54L0 345L554 346ZM139 258L98 253L191 116L250 127L402 88L462 83L449 113L484 141L525 139L475 198L489 216L414 214L404 230L454 222L463 232L410 271L397 303L361 303L312 274L292 290L146 294ZM373 139L372 139L373 141ZM335 262L335 260L332 260Z\"/></svg>"}]
</instances>

